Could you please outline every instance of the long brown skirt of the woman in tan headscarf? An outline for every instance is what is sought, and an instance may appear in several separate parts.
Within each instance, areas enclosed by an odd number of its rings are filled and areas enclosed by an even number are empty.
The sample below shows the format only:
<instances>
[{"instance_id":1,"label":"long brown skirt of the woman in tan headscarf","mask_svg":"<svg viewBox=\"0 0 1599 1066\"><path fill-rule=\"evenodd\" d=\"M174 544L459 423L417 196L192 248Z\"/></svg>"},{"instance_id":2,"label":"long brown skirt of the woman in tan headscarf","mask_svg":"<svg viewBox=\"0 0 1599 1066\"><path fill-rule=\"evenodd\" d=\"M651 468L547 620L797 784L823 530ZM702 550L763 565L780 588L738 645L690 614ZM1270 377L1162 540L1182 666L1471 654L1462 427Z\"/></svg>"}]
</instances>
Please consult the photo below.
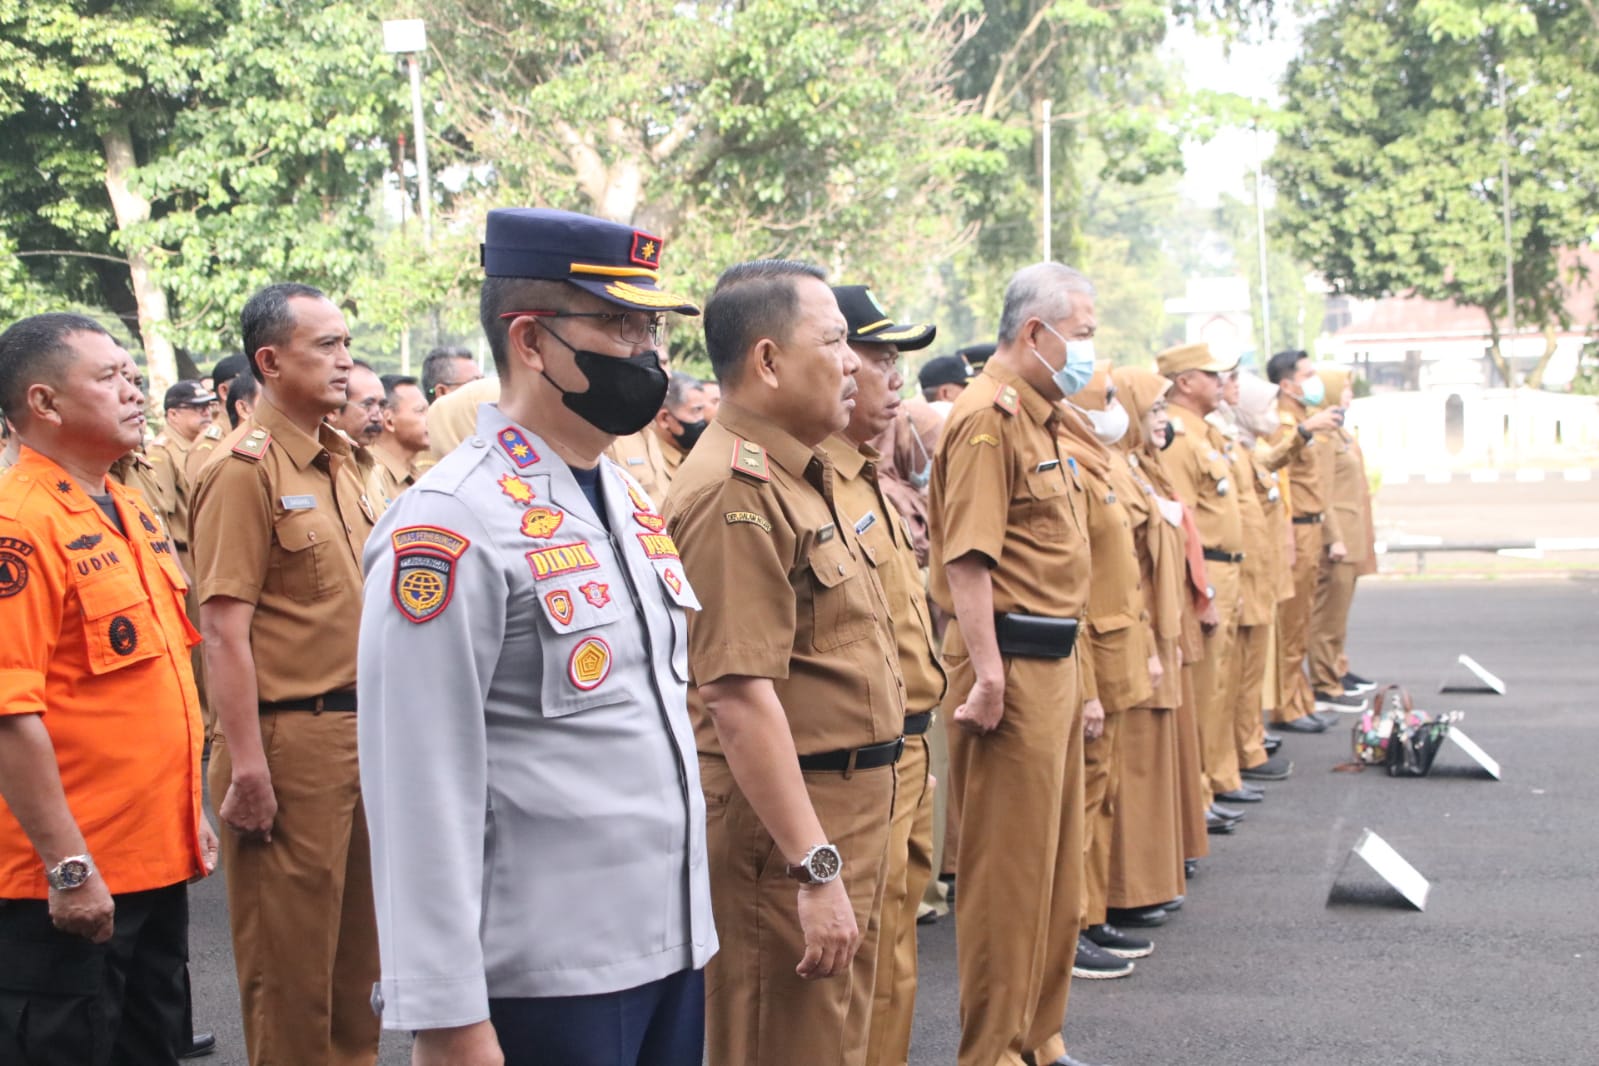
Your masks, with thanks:
<instances>
[{"instance_id":1,"label":"long brown skirt of the woman in tan headscarf","mask_svg":"<svg viewBox=\"0 0 1599 1066\"><path fill-rule=\"evenodd\" d=\"M1121 772L1105 903L1137 909L1175 900L1186 890L1177 714L1172 708L1134 706L1118 718Z\"/></svg>"}]
</instances>

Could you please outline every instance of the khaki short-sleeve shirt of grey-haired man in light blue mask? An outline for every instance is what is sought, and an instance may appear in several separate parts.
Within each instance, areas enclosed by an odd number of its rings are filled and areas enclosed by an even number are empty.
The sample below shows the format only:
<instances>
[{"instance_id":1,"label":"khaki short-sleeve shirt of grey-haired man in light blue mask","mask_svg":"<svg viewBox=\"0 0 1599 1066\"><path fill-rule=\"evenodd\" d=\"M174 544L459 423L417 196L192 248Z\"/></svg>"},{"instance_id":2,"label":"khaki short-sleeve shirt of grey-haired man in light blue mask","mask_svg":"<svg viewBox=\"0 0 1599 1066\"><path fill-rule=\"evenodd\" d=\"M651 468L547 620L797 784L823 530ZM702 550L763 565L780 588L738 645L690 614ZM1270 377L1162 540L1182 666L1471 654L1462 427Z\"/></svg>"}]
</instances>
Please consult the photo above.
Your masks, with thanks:
<instances>
[{"instance_id":1,"label":"khaki short-sleeve shirt of grey-haired man in light blue mask","mask_svg":"<svg viewBox=\"0 0 1599 1066\"><path fill-rule=\"evenodd\" d=\"M1076 619L1089 598L1083 479L1055 440L1060 412L990 363L956 398L932 465L932 598L951 615L943 567L982 555L995 611ZM956 626L950 626L953 633Z\"/></svg>"}]
</instances>

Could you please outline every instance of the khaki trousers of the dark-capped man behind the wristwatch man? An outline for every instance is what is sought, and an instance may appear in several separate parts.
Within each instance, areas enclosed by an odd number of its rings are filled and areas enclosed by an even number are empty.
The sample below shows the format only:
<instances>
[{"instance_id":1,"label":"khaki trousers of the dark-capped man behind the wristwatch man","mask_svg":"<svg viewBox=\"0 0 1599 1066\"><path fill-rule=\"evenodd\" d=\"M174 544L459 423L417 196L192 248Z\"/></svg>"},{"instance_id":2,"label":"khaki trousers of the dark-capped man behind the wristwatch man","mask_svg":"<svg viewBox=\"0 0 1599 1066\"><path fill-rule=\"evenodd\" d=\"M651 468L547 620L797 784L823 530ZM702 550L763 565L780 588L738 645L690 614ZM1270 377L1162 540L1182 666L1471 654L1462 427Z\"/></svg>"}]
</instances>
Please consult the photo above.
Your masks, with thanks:
<instances>
[{"instance_id":1,"label":"khaki trousers of the dark-capped man behind the wristwatch man","mask_svg":"<svg viewBox=\"0 0 1599 1066\"><path fill-rule=\"evenodd\" d=\"M929 730L931 732L931 730ZM927 734L905 738L894 767L894 823L883 877L878 973L871 992L867 1063L905 1066L916 1012L916 911L932 881L932 780Z\"/></svg>"}]
</instances>

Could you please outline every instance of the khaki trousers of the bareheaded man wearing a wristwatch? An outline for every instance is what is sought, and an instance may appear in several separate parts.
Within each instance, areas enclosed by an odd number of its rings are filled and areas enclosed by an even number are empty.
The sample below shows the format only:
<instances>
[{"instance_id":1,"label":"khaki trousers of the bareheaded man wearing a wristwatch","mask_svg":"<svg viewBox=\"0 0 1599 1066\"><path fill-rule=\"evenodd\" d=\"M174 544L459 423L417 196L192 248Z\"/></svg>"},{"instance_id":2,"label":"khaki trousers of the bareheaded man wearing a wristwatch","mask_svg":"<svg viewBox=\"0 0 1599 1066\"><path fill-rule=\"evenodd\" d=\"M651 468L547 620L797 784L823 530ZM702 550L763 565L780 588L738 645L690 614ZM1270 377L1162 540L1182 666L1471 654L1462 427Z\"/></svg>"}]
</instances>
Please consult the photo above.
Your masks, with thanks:
<instances>
[{"instance_id":1,"label":"khaki trousers of the bareheaded man wearing a wristwatch","mask_svg":"<svg viewBox=\"0 0 1599 1066\"><path fill-rule=\"evenodd\" d=\"M710 1066L867 1066L871 989L894 767L804 775L811 805L844 858L843 881L860 927L849 972L804 981L800 885L732 780L728 761L700 759L710 898L721 949L705 967L705 1061Z\"/></svg>"}]
</instances>

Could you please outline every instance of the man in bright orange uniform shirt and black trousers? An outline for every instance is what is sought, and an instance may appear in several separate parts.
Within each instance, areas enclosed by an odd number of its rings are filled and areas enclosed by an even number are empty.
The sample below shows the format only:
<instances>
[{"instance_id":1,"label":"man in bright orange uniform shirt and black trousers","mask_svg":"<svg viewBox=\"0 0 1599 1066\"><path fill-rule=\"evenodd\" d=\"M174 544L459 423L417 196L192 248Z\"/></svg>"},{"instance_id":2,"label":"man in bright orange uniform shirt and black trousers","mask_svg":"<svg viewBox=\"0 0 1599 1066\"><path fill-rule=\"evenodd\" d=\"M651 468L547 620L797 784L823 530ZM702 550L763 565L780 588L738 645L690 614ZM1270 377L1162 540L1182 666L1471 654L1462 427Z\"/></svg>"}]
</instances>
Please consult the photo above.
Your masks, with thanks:
<instances>
[{"instance_id":1,"label":"man in bright orange uniform shirt and black trousers","mask_svg":"<svg viewBox=\"0 0 1599 1066\"><path fill-rule=\"evenodd\" d=\"M93 320L0 336L0 1061L176 1063L200 813L198 641L150 505L133 361Z\"/></svg>"}]
</instances>

